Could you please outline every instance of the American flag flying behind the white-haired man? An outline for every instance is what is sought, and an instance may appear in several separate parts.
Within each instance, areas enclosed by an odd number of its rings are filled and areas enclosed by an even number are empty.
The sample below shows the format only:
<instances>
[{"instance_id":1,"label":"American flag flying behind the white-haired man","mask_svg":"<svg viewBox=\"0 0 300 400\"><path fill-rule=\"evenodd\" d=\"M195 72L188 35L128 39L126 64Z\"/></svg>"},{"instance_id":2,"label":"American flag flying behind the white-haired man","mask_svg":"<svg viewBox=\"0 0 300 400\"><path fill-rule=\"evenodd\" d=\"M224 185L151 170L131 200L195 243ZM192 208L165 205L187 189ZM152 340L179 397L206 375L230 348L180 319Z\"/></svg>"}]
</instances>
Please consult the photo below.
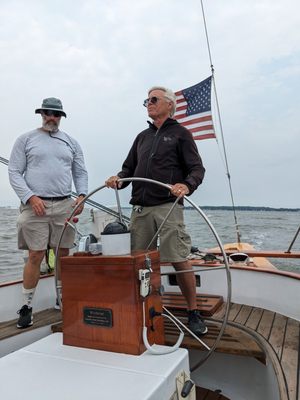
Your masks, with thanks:
<instances>
[{"instance_id":1,"label":"American flag flying behind the white-haired man","mask_svg":"<svg viewBox=\"0 0 300 400\"><path fill-rule=\"evenodd\" d=\"M190 132L195 140L216 137L211 114L211 79L197 83L176 95L174 118Z\"/></svg>"}]
</instances>

